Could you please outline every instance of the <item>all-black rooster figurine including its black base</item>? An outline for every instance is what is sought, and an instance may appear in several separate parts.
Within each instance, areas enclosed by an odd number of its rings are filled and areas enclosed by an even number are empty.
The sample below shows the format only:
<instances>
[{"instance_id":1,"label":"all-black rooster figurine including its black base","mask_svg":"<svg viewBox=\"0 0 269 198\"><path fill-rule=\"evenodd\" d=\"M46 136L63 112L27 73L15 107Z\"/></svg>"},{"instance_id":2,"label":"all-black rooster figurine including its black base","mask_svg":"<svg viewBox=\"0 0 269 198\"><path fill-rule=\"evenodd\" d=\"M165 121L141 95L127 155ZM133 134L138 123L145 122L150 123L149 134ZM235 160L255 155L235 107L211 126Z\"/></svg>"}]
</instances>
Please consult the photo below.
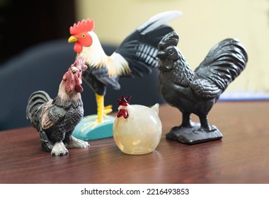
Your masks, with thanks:
<instances>
[{"instance_id":1,"label":"all-black rooster figurine including its black base","mask_svg":"<svg viewBox=\"0 0 269 198\"><path fill-rule=\"evenodd\" d=\"M246 50L239 40L222 40L192 71L176 47L178 40L178 35L172 32L158 45L159 93L183 114L181 126L173 127L166 137L183 144L222 139L219 129L209 124L207 114L229 83L245 69ZM191 122L191 113L198 115L200 123Z\"/></svg>"}]
</instances>

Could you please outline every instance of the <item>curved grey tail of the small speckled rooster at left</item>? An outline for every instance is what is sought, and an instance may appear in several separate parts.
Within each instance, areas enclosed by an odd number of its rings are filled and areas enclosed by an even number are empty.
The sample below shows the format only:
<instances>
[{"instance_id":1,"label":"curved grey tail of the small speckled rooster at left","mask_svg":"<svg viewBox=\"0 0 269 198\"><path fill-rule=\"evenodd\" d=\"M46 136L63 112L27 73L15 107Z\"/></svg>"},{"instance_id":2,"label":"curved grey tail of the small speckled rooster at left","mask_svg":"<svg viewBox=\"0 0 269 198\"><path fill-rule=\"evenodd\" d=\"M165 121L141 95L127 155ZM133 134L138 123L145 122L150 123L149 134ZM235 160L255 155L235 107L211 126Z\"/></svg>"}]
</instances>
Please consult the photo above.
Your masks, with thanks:
<instances>
[{"instance_id":1,"label":"curved grey tail of the small speckled rooster at left","mask_svg":"<svg viewBox=\"0 0 269 198\"><path fill-rule=\"evenodd\" d=\"M51 100L50 95L45 91L35 91L32 93L28 99L28 104L26 107L26 118L30 120L30 123L35 127L35 129L40 128L40 114L42 110L42 105Z\"/></svg>"}]
</instances>

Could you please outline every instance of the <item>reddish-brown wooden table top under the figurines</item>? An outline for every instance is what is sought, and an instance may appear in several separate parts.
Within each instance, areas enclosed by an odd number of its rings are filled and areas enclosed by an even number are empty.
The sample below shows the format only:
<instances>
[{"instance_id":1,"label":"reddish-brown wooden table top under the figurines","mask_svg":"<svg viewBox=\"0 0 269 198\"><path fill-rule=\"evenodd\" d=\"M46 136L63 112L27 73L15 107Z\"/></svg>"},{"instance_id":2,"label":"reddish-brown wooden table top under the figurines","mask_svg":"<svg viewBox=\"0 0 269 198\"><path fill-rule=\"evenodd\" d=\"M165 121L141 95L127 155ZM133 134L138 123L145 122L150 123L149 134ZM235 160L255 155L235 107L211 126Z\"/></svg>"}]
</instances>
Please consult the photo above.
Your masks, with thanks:
<instances>
[{"instance_id":1,"label":"reddish-brown wooden table top under the figurines","mask_svg":"<svg viewBox=\"0 0 269 198\"><path fill-rule=\"evenodd\" d=\"M159 116L161 142L142 156L108 138L53 157L32 127L0 132L0 183L269 183L269 101L217 103L209 120L224 137L193 146L165 137L181 112L163 105Z\"/></svg>"}]
</instances>

